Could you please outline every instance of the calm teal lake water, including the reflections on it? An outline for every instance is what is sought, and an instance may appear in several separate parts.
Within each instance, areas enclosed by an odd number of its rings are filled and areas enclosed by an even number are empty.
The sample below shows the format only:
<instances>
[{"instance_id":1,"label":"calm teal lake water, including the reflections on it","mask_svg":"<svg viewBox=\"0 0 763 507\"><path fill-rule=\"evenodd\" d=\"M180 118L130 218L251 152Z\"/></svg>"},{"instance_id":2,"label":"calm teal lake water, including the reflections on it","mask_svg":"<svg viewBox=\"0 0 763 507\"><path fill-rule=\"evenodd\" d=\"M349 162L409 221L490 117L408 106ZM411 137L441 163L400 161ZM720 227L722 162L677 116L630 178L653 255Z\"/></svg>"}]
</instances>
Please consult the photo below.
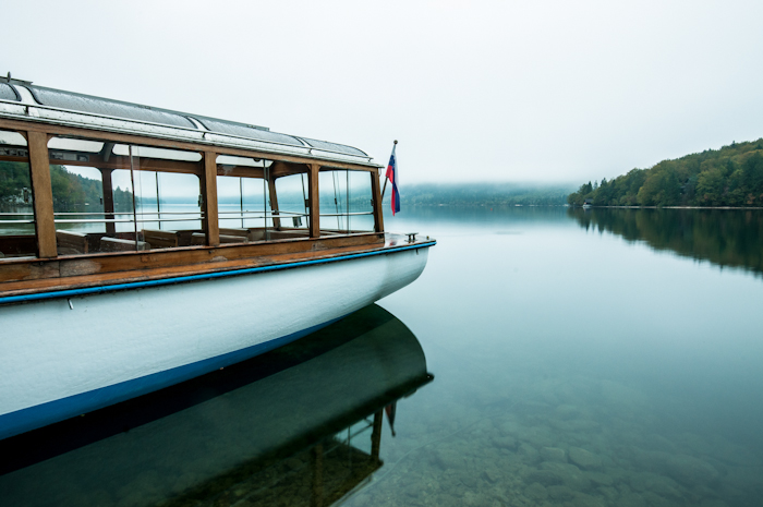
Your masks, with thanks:
<instances>
[{"instance_id":1,"label":"calm teal lake water, including the reflections on it","mask_svg":"<svg viewBox=\"0 0 763 507\"><path fill-rule=\"evenodd\" d=\"M762 212L386 220L438 240L386 311L5 444L0 504L763 504Z\"/></svg>"}]
</instances>

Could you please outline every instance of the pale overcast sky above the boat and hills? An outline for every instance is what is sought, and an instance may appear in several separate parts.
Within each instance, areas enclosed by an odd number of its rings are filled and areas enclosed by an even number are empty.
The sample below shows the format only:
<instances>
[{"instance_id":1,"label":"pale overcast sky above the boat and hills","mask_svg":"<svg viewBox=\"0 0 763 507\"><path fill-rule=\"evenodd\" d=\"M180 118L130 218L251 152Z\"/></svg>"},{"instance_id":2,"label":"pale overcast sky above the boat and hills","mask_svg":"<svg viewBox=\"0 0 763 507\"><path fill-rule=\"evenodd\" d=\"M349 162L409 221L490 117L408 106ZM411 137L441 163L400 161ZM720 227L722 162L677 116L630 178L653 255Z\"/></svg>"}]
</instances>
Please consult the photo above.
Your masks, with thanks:
<instances>
[{"instance_id":1,"label":"pale overcast sky above the boat and hills","mask_svg":"<svg viewBox=\"0 0 763 507\"><path fill-rule=\"evenodd\" d=\"M16 1L0 73L350 144L401 182L582 182L763 136L763 1Z\"/></svg>"}]
</instances>

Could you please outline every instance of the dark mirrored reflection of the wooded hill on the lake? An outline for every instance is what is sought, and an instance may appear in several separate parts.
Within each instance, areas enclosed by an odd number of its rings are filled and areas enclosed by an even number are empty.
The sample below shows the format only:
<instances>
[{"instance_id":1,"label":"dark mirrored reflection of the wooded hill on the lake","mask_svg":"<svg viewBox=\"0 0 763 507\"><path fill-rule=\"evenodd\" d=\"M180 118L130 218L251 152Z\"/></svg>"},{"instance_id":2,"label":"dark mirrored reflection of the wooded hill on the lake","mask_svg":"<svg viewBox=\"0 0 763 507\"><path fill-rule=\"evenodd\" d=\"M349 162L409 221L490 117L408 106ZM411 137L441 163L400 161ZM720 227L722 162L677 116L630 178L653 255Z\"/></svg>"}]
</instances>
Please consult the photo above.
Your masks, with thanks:
<instances>
[{"instance_id":1,"label":"dark mirrored reflection of the wooded hill on the lake","mask_svg":"<svg viewBox=\"0 0 763 507\"><path fill-rule=\"evenodd\" d=\"M763 213L728 209L569 209L597 227L655 250L763 274Z\"/></svg>"}]
</instances>

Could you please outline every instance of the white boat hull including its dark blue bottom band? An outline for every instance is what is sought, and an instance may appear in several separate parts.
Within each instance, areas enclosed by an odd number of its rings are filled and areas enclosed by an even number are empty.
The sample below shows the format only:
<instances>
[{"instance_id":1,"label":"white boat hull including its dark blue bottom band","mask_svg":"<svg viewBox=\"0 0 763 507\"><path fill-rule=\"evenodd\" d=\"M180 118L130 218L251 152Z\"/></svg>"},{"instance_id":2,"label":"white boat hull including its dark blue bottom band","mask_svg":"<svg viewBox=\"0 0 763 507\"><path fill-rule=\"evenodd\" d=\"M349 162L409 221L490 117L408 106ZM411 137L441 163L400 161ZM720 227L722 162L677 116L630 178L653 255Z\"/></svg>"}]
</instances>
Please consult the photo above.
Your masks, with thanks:
<instances>
[{"instance_id":1,"label":"white boat hull including its dark blue bottom band","mask_svg":"<svg viewBox=\"0 0 763 507\"><path fill-rule=\"evenodd\" d=\"M0 306L0 438L298 339L415 280L427 251Z\"/></svg>"}]
</instances>

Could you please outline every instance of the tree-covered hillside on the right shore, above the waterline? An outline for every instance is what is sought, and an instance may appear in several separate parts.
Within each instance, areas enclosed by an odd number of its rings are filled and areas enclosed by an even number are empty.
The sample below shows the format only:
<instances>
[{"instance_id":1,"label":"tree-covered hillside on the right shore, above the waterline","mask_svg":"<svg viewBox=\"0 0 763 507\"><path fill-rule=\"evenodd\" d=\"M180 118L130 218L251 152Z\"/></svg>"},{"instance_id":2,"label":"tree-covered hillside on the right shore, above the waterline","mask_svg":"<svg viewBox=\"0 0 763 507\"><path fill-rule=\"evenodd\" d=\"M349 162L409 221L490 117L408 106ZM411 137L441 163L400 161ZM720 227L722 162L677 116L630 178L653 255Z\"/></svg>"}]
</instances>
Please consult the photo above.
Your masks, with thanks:
<instances>
[{"instance_id":1,"label":"tree-covered hillside on the right shore, above the waterline","mask_svg":"<svg viewBox=\"0 0 763 507\"><path fill-rule=\"evenodd\" d=\"M763 138L589 182L567 202L589 198L594 206L763 206Z\"/></svg>"}]
</instances>

